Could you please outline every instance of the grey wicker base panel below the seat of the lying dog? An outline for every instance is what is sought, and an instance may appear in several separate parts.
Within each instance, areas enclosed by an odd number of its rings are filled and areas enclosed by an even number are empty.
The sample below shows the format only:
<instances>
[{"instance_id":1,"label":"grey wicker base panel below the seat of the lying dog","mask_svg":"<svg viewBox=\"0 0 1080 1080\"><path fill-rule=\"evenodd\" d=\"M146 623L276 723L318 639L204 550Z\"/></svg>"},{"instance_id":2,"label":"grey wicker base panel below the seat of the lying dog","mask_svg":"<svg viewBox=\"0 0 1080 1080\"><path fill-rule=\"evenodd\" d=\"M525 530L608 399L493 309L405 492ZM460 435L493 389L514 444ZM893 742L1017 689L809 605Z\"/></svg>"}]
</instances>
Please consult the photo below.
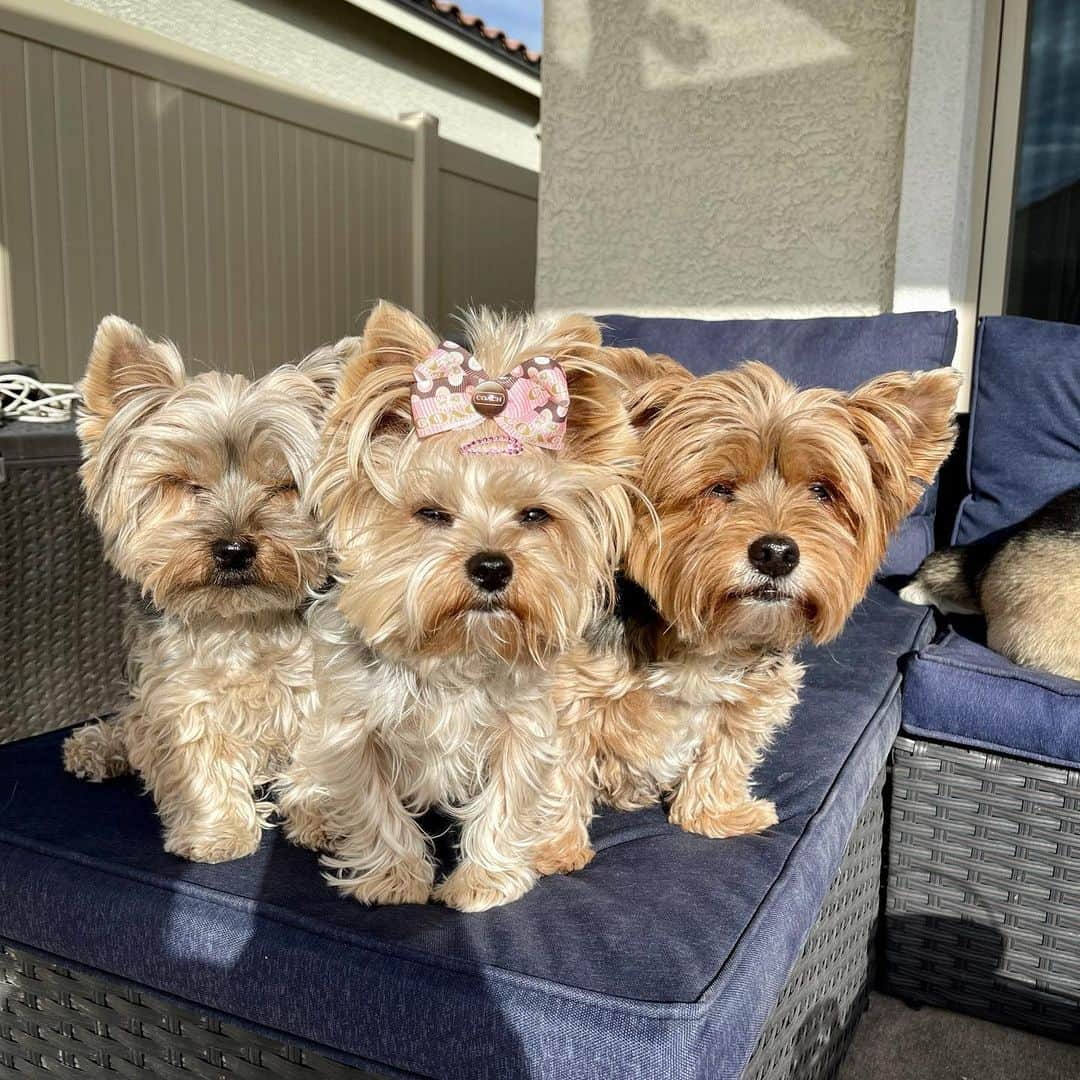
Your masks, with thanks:
<instances>
[{"instance_id":1,"label":"grey wicker base panel below the seat of the lying dog","mask_svg":"<svg viewBox=\"0 0 1080 1080\"><path fill-rule=\"evenodd\" d=\"M1080 771L901 738L890 993L1080 1041Z\"/></svg>"}]
</instances>

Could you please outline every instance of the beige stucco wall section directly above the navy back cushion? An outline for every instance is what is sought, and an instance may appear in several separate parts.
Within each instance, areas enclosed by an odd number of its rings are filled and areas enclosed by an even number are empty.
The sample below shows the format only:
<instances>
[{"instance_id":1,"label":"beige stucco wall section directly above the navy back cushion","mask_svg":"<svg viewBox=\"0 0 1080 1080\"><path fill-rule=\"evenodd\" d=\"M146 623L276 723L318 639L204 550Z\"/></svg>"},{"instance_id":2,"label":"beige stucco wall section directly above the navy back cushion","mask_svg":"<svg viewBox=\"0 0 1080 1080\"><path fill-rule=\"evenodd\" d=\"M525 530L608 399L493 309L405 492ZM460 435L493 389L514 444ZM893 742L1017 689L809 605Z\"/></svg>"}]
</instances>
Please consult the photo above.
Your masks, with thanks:
<instances>
[{"instance_id":1,"label":"beige stucco wall section directly above the navy back cushion","mask_svg":"<svg viewBox=\"0 0 1080 1080\"><path fill-rule=\"evenodd\" d=\"M537 302L892 301L914 0L548 0Z\"/></svg>"}]
</instances>

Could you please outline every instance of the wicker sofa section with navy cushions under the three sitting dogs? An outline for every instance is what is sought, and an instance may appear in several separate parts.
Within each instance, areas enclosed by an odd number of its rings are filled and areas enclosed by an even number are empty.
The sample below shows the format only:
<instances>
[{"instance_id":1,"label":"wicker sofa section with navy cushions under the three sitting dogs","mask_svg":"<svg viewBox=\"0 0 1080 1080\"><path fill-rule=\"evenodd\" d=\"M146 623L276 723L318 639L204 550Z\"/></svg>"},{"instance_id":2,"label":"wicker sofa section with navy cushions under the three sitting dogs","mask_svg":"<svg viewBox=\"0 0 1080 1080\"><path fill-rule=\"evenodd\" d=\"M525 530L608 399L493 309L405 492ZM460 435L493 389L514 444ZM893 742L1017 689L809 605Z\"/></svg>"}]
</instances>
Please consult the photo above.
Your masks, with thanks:
<instances>
[{"instance_id":1,"label":"wicker sofa section with navy cushions under the three sitting dogs","mask_svg":"<svg viewBox=\"0 0 1080 1080\"><path fill-rule=\"evenodd\" d=\"M948 363L955 342L951 313L608 322L698 370L757 356L846 388ZM885 572L929 551L933 507ZM781 818L766 834L605 812L590 866L481 915L345 901L275 832L234 863L176 860L134 781L63 772L62 731L0 746L0 1072L832 1076L874 971L900 663L932 634L875 584L806 650L759 772Z\"/></svg>"}]
</instances>

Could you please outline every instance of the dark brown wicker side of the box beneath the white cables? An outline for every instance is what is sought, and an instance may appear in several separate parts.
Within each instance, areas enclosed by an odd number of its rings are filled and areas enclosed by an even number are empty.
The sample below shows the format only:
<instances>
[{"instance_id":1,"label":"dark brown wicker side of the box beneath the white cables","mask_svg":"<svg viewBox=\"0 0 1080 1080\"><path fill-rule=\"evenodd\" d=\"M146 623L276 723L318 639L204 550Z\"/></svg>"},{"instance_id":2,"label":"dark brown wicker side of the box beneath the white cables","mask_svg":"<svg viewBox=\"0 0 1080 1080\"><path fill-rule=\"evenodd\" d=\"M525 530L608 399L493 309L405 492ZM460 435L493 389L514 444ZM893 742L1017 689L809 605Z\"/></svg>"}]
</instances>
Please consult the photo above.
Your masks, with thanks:
<instances>
[{"instance_id":1,"label":"dark brown wicker side of the box beneath the white cables","mask_svg":"<svg viewBox=\"0 0 1080 1080\"><path fill-rule=\"evenodd\" d=\"M0 483L0 742L123 700L123 585L82 512L77 462L12 462Z\"/></svg>"}]
</instances>

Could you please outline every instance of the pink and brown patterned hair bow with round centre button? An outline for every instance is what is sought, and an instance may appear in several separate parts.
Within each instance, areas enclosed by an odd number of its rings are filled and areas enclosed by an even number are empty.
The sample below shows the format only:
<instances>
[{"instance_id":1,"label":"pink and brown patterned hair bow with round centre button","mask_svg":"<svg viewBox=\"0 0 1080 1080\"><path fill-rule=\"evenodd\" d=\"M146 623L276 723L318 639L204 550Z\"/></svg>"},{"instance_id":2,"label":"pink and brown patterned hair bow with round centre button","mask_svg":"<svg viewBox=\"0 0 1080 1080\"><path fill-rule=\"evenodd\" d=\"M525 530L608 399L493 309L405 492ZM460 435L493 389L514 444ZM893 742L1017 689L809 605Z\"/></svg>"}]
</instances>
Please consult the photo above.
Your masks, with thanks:
<instances>
[{"instance_id":1,"label":"pink and brown patterned hair bow with round centre button","mask_svg":"<svg viewBox=\"0 0 1080 1080\"><path fill-rule=\"evenodd\" d=\"M502 435L474 438L462 454L521 454L526 443L561 450L570 395L550 356L531 356L492 379L471 353L444 341L413 368L413 423L420 438L494 420Z\"/></svg>"}]
</instances>

